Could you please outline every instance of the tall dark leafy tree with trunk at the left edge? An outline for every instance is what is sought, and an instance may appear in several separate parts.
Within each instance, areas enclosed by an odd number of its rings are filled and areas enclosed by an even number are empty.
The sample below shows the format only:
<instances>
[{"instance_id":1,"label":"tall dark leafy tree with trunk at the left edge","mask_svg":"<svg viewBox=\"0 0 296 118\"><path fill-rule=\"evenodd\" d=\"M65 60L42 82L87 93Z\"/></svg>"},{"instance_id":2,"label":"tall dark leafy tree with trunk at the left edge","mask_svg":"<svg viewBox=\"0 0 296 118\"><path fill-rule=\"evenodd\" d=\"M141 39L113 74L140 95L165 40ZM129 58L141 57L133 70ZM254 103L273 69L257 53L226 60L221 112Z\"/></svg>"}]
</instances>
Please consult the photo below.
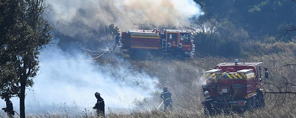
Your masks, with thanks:
<instances>
[{"instance_id":1,"label":"tall dark leafy tree with trunk at the left edge","mask_svg":"<svg viewBox=\"0 0 296 118\"><path fill-rule=\"evenodd\" d=\"M1 0L0 96L19 97L25 117L25 90L39 70L40 49L51 42L51 26L44 18L45 0Z\"/></svg>"}]
</instances>

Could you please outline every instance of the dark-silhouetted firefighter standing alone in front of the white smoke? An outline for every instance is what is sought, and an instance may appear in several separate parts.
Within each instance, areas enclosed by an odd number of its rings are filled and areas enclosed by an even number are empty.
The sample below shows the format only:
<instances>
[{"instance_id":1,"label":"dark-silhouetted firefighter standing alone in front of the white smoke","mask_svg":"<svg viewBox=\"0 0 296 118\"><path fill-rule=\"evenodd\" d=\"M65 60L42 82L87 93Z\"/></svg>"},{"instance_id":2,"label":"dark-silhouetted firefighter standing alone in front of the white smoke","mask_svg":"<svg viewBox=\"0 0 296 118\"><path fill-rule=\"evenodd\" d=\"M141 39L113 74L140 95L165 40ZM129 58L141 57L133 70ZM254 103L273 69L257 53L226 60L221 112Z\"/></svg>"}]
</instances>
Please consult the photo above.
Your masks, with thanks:
<instances>
[{"instance_id":1,"label":"dark-silhouetted firefighter standing alone in front of the white smoke","mask_svg":"<svg viewBox=\"0 0 296 118\"><path fill-rule=\"evenodd\" d=\"M104 99L100 96L101 94L99 92L95 93L95 96L97 98L97 103L95 104L95 106L92 109L96 109L97 110L97 115L98 116L105 116L105 102Z\"/></svg>"}]
</instances>

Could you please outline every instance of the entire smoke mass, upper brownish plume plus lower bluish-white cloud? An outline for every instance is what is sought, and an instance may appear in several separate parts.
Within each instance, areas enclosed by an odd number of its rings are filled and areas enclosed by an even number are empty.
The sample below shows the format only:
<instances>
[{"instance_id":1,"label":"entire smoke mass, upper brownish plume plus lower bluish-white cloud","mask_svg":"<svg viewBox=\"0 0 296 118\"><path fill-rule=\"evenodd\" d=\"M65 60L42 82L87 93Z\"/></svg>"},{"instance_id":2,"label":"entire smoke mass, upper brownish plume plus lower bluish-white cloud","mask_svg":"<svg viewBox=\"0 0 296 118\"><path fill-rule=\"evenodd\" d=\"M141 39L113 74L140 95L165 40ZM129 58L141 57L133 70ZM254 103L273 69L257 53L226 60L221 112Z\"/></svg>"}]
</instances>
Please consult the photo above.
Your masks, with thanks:
<instances>
[{"instance_id":1,"label":"entire smoke mass, upper brownish plume plus lower bluish-white cloud","mask_svg":"<svg viewBox=\"0 0 296 118\"><path fill-rule=\"evenodd\" d=\"M81 113L84 108L92 111L95 92L105 99L107 111L141 106L138 100L158 94L161 78L133 68L124 57L110 54L116 65L99 64L88 60L97 55L86 55L84 51L105 51L117 31L186 26L204 14L193 0L48 0L47 4L55 45L42 49L39 75L34 78L33 88L27 90L26 112L32 114ZM178 76L175 72L158 70L166 77ZM195 83L201 84L198 80ZM19 99L12 101L19 111ZM145 109L158 104L155 101Z\"/></svg>"}]
</instances>

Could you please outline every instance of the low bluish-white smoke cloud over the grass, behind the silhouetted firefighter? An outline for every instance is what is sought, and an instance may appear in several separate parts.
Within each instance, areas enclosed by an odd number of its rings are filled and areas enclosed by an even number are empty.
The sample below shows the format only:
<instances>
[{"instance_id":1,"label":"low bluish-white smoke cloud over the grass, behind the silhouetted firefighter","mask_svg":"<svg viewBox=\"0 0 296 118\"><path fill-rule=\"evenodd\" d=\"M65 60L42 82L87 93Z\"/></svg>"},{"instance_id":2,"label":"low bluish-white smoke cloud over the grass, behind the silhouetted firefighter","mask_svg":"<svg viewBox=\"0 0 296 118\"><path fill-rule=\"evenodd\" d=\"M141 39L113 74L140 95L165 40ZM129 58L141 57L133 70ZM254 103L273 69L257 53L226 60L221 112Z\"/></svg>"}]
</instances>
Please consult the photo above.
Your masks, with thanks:
<instances>
[{"instance_id":1,"label":"low bluish-white smoke cloud over the grass, behind the silhouetted firefighter","mask_svg":"<svg viewBox=\"0 0 296 118\"><path fill-rule=\"evenodd\" d=\"M92 111L96 103L95 92L101 93L106 111L108 108L113 111L132 110L135 99L150 97L157 90L157 78L130 68L128 60L119 59L121 65L116 66L97 65L92 61L68 62L86 59L84 53L72 50L76 56L58 47L49 46L43 50L39 56L39 75L34 78L31 91L27 90L27 113L61 113L67 110L79 114L84 108ZM19 111L19 99L14 97L12 101L14 109ZM61 106L64 103L66 105Z\"/></svg>"}]
</instances>

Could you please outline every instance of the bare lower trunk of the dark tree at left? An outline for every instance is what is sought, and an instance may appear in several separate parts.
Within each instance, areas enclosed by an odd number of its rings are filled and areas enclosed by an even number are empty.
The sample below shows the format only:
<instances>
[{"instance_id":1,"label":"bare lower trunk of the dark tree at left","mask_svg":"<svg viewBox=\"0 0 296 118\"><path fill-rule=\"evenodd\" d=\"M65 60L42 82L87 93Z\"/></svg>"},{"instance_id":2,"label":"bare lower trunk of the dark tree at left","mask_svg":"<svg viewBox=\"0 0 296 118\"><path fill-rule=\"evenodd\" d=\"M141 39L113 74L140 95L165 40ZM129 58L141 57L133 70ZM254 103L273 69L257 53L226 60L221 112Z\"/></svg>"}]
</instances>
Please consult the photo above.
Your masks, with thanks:
<instances>
[{"instance_id":1,"label":"bare lower trunk of the dark tree at left","mask_svg":"<svg viewBox=\"0 0 296 118\"><path fill-rule=\"evenodd\" d=\"M19 96L19 111L21 118L25 118L25 90L26 90L26 79L21 79L21 92Z\"/></svg>"}]
</instances>

